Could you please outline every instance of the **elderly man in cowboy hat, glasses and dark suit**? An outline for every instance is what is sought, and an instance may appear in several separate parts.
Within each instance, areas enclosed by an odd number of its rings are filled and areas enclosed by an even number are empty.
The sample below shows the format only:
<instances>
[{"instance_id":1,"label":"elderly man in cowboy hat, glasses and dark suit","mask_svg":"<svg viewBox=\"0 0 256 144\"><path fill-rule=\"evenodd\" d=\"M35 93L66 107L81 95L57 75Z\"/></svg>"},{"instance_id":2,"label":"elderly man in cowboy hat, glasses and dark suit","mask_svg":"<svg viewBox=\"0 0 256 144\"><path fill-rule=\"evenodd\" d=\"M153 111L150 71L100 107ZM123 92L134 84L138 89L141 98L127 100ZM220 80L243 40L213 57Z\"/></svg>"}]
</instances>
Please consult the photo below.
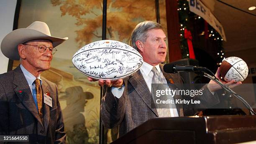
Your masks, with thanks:
<instances>
[{"instance_id":1,"label":"elderly man in cowboy hat, glasses and dark suit","mask_svg":"<svg viewBox=\"0 0 256 144\"><path fill-rule=\"evenodd\" d=\"M28 135L29 144L65 143L56 85L40 73L50 68L55 47L67 39L52 37L39 21L5 36L1 51L20 60L20 66L0 75L0 135Z\"/></svg>"}]
</instances>

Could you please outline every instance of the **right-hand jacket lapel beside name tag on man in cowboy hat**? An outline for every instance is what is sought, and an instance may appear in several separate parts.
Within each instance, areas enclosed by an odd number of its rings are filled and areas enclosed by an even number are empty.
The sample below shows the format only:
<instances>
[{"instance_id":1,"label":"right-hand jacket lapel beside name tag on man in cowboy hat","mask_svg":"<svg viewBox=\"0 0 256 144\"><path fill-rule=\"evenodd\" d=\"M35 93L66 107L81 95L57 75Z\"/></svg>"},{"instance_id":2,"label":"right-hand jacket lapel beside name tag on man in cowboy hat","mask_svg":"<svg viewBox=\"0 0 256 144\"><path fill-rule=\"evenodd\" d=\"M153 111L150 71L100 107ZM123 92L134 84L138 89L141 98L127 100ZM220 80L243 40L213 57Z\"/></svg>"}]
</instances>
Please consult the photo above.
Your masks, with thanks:
<instances>
[{"instance_id":1,"label":"right-hand jacket lapel beside name tag on man in cowboy hat","mask_svg":"<svg viewBox=\"0 0 256 144\"><path fill-rule=\"evenodd\" d=\"M42 81L43 80L44 79L42 78ZM48 124L49 124L49 119L50 119L50 108L47 104L44 103L44 94L46 92L49 92L49 89L48 89L48 87L47 87L47 85L45 84L44 81L42 83L42 91L43 91L44 127L45 127L45 131L47 131Z\"/></svg>"}]
</instances>

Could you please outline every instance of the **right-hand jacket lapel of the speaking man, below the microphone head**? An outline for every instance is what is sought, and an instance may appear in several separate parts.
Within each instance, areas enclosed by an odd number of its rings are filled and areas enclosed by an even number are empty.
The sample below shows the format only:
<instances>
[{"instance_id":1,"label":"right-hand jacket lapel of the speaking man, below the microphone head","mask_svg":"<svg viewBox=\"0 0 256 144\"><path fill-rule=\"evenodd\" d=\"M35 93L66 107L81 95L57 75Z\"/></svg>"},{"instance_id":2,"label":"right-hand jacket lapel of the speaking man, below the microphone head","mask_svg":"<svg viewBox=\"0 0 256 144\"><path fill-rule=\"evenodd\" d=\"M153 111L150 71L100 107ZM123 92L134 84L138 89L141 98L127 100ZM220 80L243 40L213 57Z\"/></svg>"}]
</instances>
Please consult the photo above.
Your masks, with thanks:
<instances>
[{"instance_id":1,"label":"right-hand jacket lapel of the speaking man, below the microphone head","mask_svg":"<svg viewBox=\"0 0 256 144\"><path fill-rule=\"evenodd\" d=\"M164 77L166 78L166 81L167 81L168 84L172 83L172 84L176 85L177 83L179 83L179 80L177 79L178 78L177 76L174 76L174 74L164 72L162 64L160 64L160 69L163 72ZM179 84L181 84L181 83L179 83ZM177 87L177 85L176 85L176 87ZM174 101L176 99L180 99L179 96L174 96ZM179 116L183 116L183 109L181 109L182 104L176 104L176 107L177 107L177 111L178 111Z\"/></svg>"}]
</instances>

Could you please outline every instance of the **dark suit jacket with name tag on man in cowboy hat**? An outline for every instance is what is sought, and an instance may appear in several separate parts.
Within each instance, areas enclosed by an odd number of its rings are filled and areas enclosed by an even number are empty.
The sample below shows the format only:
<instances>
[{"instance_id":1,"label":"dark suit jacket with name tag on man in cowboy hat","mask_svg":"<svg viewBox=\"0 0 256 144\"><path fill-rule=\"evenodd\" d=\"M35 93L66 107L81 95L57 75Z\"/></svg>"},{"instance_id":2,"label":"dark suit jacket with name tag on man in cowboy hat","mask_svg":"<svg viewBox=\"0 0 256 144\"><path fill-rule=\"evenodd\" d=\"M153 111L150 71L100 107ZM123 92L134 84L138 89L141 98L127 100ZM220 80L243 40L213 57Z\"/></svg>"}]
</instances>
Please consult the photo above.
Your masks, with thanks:
<instances>
[{"instance_id":1,"label":"dark suit jacket with name tag on man in cowboy hat","mask_svg":"<svg viewBox=\"0 0 256 144\"><path fill-rule=\"evenodd\" d=\"M0 75L0 135L29 135L25 144L65 144L57 87L41 79L43 95L48 92L52 98L52 107L43 102L44 124L20 66Z\"/></svg>"}]
</instances>

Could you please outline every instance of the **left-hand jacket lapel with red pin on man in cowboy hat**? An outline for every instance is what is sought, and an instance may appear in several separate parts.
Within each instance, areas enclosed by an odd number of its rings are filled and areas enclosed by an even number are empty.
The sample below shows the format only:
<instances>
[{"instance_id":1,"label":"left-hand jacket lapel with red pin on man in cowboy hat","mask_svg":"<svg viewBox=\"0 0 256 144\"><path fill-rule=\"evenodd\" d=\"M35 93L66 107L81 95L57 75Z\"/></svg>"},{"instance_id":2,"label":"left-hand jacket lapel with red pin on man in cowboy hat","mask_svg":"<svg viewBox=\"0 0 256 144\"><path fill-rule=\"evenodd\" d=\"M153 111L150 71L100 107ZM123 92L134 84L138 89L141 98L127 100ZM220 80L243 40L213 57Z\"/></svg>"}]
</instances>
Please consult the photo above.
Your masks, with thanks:
<instances>
[{"instance_id":1,"label":"left-hand jacket lapel with red pin on man in cowboy hat","mask_svg":"<svg viewBox=\"0 0 256 144\"><path fill-rule=\"evenodd\" d=\"M21 103L31 112L31 114L39 121L41 124L41 119L39 117L38 111L36 109L36 104L33 100L31 90L28 86L28 82L20 69L20 66L15 68L13 78L14 91Z\"/></svg>"}]
</instances>

